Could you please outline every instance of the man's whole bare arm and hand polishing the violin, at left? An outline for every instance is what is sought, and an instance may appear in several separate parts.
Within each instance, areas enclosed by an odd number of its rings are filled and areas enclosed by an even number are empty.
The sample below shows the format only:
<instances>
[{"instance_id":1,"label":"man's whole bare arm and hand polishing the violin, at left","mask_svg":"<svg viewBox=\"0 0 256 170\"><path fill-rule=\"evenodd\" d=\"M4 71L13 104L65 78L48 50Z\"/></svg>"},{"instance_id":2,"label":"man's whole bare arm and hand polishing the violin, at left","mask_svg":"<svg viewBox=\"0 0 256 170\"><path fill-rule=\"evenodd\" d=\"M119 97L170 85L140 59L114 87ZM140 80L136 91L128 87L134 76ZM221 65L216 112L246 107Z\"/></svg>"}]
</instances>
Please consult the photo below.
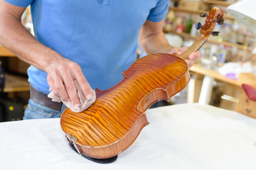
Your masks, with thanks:
<instances>
[{"instance_id":1,"label":"man's whole bare arm and hand polishing the violin, at left","mask_svg":"<svg viewBox=\"0 0 256 170\"><path fill-rule=\"evenodd\" d=\"M79 104L73 79L78 81L85 97L91 90L80 66L38 42L21 23L25 8L0 0L0 42L21 60L48 73L48 84L55 95ZM76 108L76 106L75 106Z\"/></svg>"}]
</instances>

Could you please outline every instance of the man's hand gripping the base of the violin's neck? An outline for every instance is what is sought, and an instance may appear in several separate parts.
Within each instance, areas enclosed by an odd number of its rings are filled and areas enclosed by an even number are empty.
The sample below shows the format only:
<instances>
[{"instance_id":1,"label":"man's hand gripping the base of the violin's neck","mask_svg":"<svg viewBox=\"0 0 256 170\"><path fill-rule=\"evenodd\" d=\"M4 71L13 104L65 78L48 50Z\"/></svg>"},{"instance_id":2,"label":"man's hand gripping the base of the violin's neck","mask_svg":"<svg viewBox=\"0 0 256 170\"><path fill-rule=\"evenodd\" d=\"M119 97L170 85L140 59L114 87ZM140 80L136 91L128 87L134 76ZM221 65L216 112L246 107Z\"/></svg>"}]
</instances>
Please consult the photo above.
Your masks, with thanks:
<instances>
[{"instance_id":1,"label":"man's hand gripping the base of the violin's neck","mask_svg":"<svg viewBox=\"0 0 256 170\"><path fill-rule=\"evenodd\" d=\"M180 56L182 52L186 51L187 49L188 47L174 48L173 50L170 50L168 53L176 53L178 56ZM186 62L188 63L188 68L191 68L193 64L195 64L196 60L200 59L201 57L202 53L200 51L192 52L191 55L188 56L188 60L186 60Z\"/></svg>"}]
</instances>

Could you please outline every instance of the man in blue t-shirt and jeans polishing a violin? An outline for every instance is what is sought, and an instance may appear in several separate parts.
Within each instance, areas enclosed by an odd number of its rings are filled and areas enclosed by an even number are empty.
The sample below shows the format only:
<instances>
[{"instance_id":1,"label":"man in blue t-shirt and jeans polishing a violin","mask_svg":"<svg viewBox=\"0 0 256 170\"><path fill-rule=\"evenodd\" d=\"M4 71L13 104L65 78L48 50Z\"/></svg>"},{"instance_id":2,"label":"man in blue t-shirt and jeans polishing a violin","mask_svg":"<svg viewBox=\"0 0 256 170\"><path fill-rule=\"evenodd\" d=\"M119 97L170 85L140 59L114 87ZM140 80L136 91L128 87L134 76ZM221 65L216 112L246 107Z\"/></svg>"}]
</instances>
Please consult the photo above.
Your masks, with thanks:
<instances>
[{"instance_id":1,"label":"man in blue t-shirt and jeans polishing a violin","mask_svg":"<svg viewBox=\"0 0 256 170\"><path fill-rule=\"evenodd\" d=\"M28 5L35 37L21 24ZM164 37L168 9L169 0L0 0L0 42L32 65L24 118L60 116L61 106L46 97L49 89L78 108L74 79L85 98L92 96L90 86L104 90L117 84L135 60L138 39L148 54L183 51ZM191 54L189 66L200 57Z\"/></svg>"}]
</instances>

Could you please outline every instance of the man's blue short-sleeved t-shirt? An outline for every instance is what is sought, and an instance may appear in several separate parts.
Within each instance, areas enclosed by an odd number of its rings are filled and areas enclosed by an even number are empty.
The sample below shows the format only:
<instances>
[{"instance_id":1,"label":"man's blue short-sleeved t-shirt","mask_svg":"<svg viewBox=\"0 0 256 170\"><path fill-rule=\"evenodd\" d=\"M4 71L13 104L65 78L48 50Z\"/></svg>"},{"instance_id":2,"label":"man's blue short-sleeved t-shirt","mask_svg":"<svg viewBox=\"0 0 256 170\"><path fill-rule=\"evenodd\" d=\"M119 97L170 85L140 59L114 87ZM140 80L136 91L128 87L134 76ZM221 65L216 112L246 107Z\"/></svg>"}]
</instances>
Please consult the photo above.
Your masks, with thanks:
<instances>
[{"instance_id":1,"label":"man's blue short-sleeved t-shirt","mask_svg":"<svg viewBox=\"0 0 256 170\"><path fill-rule=\"evenodd\" d=\"M140 28L164 19L169 0L4 0L31 4L35 38L77 62L92 89L108 89L123 79L136 59ZM26 50L26 49L24 49ZM48 94L47 74L28 68L28 81Z\"/></svg>"}]
</instances>

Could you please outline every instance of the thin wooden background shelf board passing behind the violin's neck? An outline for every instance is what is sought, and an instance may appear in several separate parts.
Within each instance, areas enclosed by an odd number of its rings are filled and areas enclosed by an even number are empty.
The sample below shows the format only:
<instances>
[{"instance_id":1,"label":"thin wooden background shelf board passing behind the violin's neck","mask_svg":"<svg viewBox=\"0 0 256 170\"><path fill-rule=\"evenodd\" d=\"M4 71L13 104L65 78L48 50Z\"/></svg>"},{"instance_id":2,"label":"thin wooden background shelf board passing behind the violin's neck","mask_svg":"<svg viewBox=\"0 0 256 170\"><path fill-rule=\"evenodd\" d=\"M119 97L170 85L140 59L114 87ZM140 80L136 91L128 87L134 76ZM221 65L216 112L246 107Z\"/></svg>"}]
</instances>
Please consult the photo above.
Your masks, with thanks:
<instances>
[{"instance_id":1,"label":"thin wooden background shelf board passing behind the violin's neck","mask_svg":"<svg viewBox=\"0 0 256 170\"><path fill-rule=\"evenodd\" d=\"M165 31L165 33L173 33L173 34L176 34L176 35L180 35L184 38L191 38L191 39L194 39L194 40L198 39L198 37L192 36L188 33L176 33L175 31ZM223 44L223 45L227 45L228 47L237 47L238 49L241 49L241 50L243 50L244 47L245 47L244 45L239 45L239 44L235 44L235 43L232 43L232 42L226 42L226 41L219 42L218 40L208 40L208 42L213 43L213 44L218 44L218 45Z\"/></svg>"}]
</instances>

